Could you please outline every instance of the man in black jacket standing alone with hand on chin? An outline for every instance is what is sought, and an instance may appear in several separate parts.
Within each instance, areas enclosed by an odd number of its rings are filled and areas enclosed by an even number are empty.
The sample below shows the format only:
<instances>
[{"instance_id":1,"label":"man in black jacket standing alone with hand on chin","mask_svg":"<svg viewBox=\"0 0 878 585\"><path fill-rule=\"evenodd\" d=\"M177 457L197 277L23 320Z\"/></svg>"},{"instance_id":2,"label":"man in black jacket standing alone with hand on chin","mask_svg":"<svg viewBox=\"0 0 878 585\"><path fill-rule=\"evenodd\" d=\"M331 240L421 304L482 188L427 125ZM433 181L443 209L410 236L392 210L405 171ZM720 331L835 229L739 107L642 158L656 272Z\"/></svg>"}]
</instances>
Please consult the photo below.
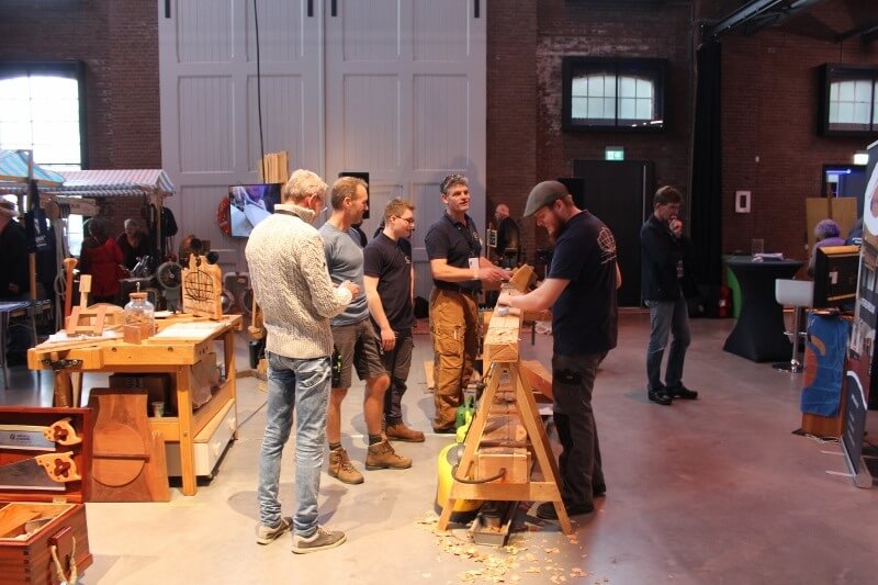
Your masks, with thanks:
<instances>
[{"instance_id":1,"label":"man in black jacket standing alone with hand on chin","mask_svg":"<svg viewBox=\"0 0 878 585\"><path fill-rule=\"evenodd\" d=\"M689 347L689 315L683 281L688 277L691 241L683 233L679 207L683 196L673 187L655 192L653 214L640 228L643 261L641 283L650 308L650 345L646 348L646 394L662 405L673 398L695 400L698 393L683 385L683 362ZM665 383L662 383L662 358L672 335Z\"/></svg>"}]
</instances>

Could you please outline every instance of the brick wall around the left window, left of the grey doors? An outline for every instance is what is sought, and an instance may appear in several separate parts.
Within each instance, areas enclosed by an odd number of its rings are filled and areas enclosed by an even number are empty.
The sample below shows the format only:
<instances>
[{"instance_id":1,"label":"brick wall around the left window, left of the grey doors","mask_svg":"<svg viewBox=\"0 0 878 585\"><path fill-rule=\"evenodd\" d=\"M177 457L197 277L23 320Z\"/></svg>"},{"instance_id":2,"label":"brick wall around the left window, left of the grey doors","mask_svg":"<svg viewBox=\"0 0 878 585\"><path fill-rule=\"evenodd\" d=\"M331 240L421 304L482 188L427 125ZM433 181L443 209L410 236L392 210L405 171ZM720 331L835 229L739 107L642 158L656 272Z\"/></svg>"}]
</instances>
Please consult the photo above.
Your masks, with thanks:
<instances>
[{"instance_id":1,"label":"brick wall around the left window, left of the grey doors","mask_svg":"<svg viewBox=\"0 0 878 585\"><path fill-rule=\"evenodd\" d=\"M161 167L155 2L5 0L0 38L0 60L85 63L88 168ZM105 204L113 229L140 204Z\"/></svg>"}]
</instances>

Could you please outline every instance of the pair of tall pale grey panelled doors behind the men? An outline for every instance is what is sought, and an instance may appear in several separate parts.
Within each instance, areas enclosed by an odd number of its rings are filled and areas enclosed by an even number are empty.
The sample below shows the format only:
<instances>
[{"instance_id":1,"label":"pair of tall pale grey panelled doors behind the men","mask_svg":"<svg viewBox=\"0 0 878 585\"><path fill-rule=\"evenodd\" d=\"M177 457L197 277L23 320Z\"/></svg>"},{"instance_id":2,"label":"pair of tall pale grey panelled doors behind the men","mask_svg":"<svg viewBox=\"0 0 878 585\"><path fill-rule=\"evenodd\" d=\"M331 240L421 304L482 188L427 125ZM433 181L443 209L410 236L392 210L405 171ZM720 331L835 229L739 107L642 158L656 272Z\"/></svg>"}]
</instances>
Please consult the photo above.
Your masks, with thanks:
<instances>
[{"instance_id":1,"label":"pair of tall pale grey panelled doors behind the men","mask_svg":"<svg viewBox=\"0 0 878 585\"><path fill-rule=\"evenodd\" d=\"M472 215L485 217L484 0L159 0L162 165L184 233L209 238L245 269L243 240L214 210L229 184L256 182L262 135L292 169L327 182L368 171L371 236L386 201L412 199L418 294L429 291L427 226L438 184L466 173Z\"/></svg>"}]
</instances>

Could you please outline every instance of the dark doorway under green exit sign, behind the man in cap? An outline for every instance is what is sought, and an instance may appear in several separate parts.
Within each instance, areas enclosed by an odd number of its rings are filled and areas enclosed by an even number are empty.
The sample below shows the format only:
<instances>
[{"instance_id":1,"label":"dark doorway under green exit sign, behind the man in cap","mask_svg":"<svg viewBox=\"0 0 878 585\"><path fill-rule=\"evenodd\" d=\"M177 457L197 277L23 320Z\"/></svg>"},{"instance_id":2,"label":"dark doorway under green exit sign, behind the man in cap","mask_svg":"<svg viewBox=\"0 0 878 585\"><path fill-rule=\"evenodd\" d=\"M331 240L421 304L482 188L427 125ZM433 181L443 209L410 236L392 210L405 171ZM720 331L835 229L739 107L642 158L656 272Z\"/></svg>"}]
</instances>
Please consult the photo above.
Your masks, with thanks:
<instances>
[{"instance_id":1,"label":"dark doorway under green exit sign, behind the man in cap","mask_svg":"<svg viewBox=\"0 0 878 585\"><path fill-rule=\"evenodd\" d=\"M573 175L584 179L585 207L616 236L622 271L619 305L641 306L640 227L652 211L650 202L655 183L652 161L574 160Z\"/></svg>"}]
</instances>

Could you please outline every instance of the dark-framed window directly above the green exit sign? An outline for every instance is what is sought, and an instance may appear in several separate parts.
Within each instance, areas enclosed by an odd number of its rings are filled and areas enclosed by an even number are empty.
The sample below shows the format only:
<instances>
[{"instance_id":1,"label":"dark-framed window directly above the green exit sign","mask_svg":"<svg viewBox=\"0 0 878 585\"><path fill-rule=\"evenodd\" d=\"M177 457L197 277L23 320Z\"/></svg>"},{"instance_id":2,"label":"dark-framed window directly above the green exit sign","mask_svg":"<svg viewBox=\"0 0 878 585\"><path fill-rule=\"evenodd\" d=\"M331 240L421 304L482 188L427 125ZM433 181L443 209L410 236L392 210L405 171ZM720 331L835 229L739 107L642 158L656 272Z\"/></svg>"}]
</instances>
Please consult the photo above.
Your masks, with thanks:
<instances>
[{"instance_id":1,"label":"dark-framed window directly above the green exit sign","mask_svg":"<svg viewBox=\"0 0 878 585\"><path fill-rule=\"evenodd\" d=\"M664 130L665 59L564 57L562 126Z\"/></svg>"}]
</instances>

